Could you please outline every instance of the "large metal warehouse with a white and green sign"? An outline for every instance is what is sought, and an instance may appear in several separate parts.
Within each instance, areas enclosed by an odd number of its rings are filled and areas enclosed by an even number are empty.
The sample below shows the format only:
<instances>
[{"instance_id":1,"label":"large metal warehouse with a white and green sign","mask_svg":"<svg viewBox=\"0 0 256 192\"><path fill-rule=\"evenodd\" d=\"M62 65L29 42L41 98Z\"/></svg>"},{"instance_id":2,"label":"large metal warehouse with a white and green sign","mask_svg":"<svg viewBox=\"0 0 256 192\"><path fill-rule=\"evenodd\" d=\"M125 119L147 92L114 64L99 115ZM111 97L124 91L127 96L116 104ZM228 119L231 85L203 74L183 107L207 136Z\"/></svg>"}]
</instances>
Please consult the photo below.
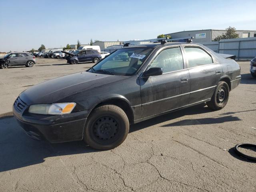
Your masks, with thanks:
<instances>
[{"instance_id":1,"label":"large metal warehouse with a white and green sign","mask_svg":"<svg viewBox=\"0 0 256 192\"><path fill-rule=\"evenodd\" d=\"M256 37L256 30L236 30L239 38ZM226 30L216 30L216 29L206 29L206 30L192 30L192 31L181 31L175 33L169 33L165 35L170 35L173 39L184 38L184 37L194 37L193 42L210 42L217 36L225 34Z\"/></svg>"}]
</instances>

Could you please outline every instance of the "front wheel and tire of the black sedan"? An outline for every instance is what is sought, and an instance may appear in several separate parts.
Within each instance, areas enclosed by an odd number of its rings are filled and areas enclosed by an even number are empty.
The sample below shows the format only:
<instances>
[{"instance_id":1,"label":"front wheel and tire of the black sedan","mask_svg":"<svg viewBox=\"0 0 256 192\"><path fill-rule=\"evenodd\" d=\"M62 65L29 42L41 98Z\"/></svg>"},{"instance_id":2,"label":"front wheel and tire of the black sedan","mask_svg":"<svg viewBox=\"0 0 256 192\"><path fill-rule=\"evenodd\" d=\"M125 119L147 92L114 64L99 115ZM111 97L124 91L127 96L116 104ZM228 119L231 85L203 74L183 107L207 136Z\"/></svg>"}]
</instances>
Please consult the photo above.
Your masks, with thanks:
<instances>
[{"instance_id":1,"label":"front wheel and tire of the black sedan","mask_svg":"<svg viewBox=\"0 0 256 192\"><path fill-rule=\"evenodd\" d=\"M129 120L125 112L118 106L104 105L90 114L83 140L92 148L109 150L122 144L128 132Z\"/></svg>"}]
</instances>

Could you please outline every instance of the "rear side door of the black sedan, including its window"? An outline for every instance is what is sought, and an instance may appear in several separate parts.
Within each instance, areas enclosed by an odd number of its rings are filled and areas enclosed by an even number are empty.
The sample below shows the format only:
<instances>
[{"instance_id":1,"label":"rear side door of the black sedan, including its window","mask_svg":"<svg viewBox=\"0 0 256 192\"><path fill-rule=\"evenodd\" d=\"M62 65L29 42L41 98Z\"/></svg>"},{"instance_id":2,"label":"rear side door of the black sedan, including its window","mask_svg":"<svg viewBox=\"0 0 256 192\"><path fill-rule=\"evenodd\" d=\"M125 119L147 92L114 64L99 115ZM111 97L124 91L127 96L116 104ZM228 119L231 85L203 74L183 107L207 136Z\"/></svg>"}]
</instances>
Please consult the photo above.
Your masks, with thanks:
<instances>
[{"instance_id":1,"label":"rear side door of the black sedan, including its window","mask_svg":"<svg viewBox=\"0 0 256 192\"><path fill-rule=\"evenodd\" d=\"M200 46L184 46L184 52L190 76L189 104L211 98L222 73L221 65Z\"/></svg>"}]
</instances>

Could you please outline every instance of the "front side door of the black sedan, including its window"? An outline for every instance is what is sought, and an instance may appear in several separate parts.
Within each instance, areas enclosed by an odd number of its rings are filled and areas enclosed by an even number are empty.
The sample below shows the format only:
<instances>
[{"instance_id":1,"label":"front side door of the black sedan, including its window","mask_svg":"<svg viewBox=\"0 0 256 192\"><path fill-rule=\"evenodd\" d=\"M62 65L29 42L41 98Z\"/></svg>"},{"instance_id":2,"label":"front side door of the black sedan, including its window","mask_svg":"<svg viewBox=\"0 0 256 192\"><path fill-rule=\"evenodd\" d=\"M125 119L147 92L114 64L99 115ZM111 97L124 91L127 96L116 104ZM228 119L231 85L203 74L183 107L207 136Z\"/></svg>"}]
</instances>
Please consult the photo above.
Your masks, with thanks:
<instances>
[{"instance_id":1,"label":"front side door of the black sedan, including its window","mask_svg":"<svg viewBox=\"0 0 256 192\"><path fill-rule=\"evenodd\" d=\"M142 118L185 106L189 102L189 73L184 68L179 46L162 50L149 67L160 67L163 74L140 77Z\"/></svg>"}]
</instances>

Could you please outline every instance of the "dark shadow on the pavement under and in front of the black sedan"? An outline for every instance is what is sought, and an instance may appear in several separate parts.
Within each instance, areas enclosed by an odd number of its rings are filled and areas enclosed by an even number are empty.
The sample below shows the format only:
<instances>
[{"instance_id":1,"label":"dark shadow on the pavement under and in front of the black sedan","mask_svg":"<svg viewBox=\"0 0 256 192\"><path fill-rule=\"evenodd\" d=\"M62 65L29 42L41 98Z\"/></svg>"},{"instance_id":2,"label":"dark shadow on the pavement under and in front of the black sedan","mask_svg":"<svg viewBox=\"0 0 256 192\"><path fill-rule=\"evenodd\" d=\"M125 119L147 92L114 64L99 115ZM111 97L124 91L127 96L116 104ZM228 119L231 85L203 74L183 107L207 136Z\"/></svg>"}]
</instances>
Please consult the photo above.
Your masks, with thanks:
<instances>
[{"instance_id":1,"label":"dark shadow on the pavement under and in front of the black sedan","mask_svg":"<svg viewBox=\"0 0 256 192\"><path fill-rule=\"evenodd\" d=\"M203 114L212 112L205 104L192 106L184 110L162 115L138 124L130 126L130 132L166 122L184 115ZM230 116L220 118L201 118L197 119L201 124L216 124L224 121L236 121L239 118ZM166 126L181 126L185 124L195 124L196 121L168 124ZM12 112L0 114L0 172L22 168L44 162L45 158L53 156L64 156L71 154L85 154L99 152L87 146L83 141L50 144L44 141L37 141L29 138L26 133L18 126Z\"/></svg>"}]
</instances>

